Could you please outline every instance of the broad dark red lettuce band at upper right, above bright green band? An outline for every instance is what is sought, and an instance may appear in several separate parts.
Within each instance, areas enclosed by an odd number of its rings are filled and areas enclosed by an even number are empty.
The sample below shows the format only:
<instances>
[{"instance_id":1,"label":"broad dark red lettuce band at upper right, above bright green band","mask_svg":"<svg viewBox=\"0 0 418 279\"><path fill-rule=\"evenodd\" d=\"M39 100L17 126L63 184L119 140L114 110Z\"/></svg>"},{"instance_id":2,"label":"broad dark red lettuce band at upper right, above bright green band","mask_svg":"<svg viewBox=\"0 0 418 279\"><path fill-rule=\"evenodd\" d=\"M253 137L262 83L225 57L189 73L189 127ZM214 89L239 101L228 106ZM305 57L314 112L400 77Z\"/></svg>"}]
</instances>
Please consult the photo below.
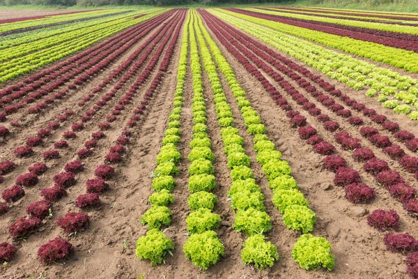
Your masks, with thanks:
<instances>
[{"instance_id":1,"label":"broad dark red lettuce band at upper right, above bright green band","mask_svg":"<svg viewBox=\"0 0 418 279\"><path fill-rule=\"evenodd\" d=\"M264 13L256 13L250 10L240 10L238 8L226 8L226 10L231 10L235 13L241 13L243 15L251 15L253 17L262 18L264 20L272 20L274 22L290 24L296 27L330 33L337 36L350 37L356 40L364 40L367 42L386 45L388 47L396 47L403 50L412 50L414 52L418 52L418 36L411 34L350 27L348 25L317 22L315 20L301 20L279 15L267 15Z\"/></svg>"}]
</instances>

